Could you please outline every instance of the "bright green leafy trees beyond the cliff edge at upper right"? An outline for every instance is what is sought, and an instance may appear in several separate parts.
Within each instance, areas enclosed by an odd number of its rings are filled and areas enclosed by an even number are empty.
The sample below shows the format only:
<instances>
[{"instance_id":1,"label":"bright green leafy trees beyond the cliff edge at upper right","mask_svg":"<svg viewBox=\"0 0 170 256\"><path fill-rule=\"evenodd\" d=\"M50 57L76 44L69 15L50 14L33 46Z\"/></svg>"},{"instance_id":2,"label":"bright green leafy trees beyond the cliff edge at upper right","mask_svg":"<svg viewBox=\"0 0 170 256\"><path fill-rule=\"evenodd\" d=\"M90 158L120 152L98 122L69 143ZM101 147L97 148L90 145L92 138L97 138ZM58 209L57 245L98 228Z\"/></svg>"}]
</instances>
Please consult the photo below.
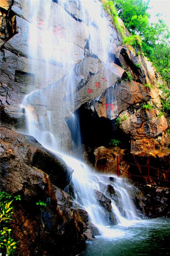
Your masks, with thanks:
<instances>
[{"instance_id":1,"label":"bright green leafy trees beyond the cliff edge at upper right","mask_svg":"<svg viewBox=\"0 0 170 256\"><path fill-rule=\"evenodd\" d=\"M136 44L135 40L124 39L124 44L134 47L140 46L141 51L152 61L156 71L162 76L167 86L170 86L170 32L161 14L157 14L157 22L149 23L150 15L147 13L149 1L144 0L113 0L119 17L132 35L142 38ZM139 53L137 53L138 55Z\"/></svg>"}]
</instances>

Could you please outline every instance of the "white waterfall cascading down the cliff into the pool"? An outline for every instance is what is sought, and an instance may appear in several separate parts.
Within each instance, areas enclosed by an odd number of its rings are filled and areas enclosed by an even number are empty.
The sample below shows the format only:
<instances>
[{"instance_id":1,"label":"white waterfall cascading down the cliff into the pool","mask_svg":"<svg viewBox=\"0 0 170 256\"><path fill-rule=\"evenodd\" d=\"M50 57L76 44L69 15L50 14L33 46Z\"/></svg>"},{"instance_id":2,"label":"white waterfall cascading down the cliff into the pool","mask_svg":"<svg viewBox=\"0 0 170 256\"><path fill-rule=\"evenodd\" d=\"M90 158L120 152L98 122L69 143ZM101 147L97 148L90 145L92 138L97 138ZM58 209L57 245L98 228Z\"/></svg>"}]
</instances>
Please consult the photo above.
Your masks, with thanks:
<instances>
[{"instance_id":1,"label":"white waterfall cascading down the cliff into the pool","mask_svg":"<svg viewBox=\"0 0 170 256\"><path fill-rule=\"evenodd\" d=\"M35 137L53 153L62 155L67 165L74 170L72 186L75 202L88 212L90 221L99 228L104 236L118 236L116 230L106 227L110 225L110 222L103 207L96 199L95 190L101 191L107 197L106 186L109 184L114 187L119 205L111 198L113 214L117 223L127 225L128 221L130 223L132 220L138 220L139 217L137 217L135 207L123 185L124 180L115 176L110 179L107 176L92 172L83 162L62 153L59 147L61 140L64 141L65 139L62 137L63 133L60 129L60 124L62 124L62 129L68 129L65 117L73 116L75 118L71 113L72 109L74 109L75 88L78 84L74 66L77 63L81 63L84 58L82 53L79 52L80 50L76 49L77 46L74 43L75 33L77 32L71 30L69 20L66 17L67 13L64 10L64 6L67 1L59 1L60 8L59 11L58 9L56 10L55 17L50 15L50 10L55 8L56 3L50 0L27 1L27 3L31 12L34 10L33 16L30 14L32 22L29 27L29 66L31 72L38 70L39 75L37 75L37 78L35 77L34 86L28 88L28 94L21 104L27 119L27 128L24 132ZM82 16L85 20L84 26L87 28L88 25L90 51L100 57L102 62L101 69L105 69L107 80L109 80L108 70L111 67L107 57L110 41L106 29L104 10L102 10L100 2L78 1L77 4L80 3ZM95 13L100 13L102 10L103 15L96 15L97 17L95 17L94 8L98 8ZM55 26L51 26L52 20L55 21ZM63 28L63 24L65 28ZM94 33L94 26L98 27L98 33ZM52 40L52 38L54 39ZM98 52L98 44L102 49L101 52ZM76 51L77 54L74 54ZM77 57L78 52L79 57ZM45 68L42 68L42 62ZM55 68L58 76L55 74L55 77L52 77L51 73L55 73ZM60 69L65 74L63 78L60 76ZM55 79L57 82L54 83ZM106 79L106 77L103 79ZM111 89L113 93L111 99L109 99L109 104L112 104L114 97L114 86ZM66 95L64 97L65 91ZM60 109L56 107L56 101ZM56 125L54 125L54 122L56 122ZM73 126L75 124L77 124L77 120L71 123ZM81 140L80 129L74 129L74 133L76 134L74 134L75 137L78 138L79 142L77 144L79 145Z\"/></svg>"}]
</instances>

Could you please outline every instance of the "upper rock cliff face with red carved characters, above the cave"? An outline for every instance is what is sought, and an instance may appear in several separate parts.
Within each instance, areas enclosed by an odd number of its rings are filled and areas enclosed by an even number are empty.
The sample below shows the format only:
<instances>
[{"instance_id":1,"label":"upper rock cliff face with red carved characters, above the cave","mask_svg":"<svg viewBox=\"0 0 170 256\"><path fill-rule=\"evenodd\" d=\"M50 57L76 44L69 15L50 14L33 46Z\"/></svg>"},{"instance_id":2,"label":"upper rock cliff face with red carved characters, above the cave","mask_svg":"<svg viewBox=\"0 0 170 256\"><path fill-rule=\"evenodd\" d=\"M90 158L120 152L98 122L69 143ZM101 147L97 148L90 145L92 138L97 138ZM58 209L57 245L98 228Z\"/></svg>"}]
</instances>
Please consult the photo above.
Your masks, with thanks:
<instances>
[{"instance_id":1,"label":"upper rock cliff face with red carved characters, above the cave","mask_svg":"<svg viewBox=\"0 0 170 256\"><path fill-rule=\"evenodd\" d=\"M164 132L168 128L164 116L158 117L161 108L156 79L158 78L151 63L141 54L137 55L138 49L122 45L122 39L115 30L109 16L104 10L99 15L107 20L107 30L111 42L108 51L107 65L103 62L103 45L96 45L90 38L92 34L99 34L99 27L95 23L90 23L84 13L80 1L71 1L71 4L58 4L54 1L50 12L51 16L63 16L60 18L61 34L65 41L69 43L69 51L64 51L65 60L60 58L51 60L50 74L45 83L46 67L43 59L36 59L38 64L31 72L30 56L28 56L29 46L29 23L32 22L26 1L2 1L2 28L1 34L1 103L2 103L2 124L12 129L25 125L25 116L20 108L20 103L25 94L29 92L32 84L37 89L34 97L34 108L37 118L43 116L44 112L50 109L53 116L53 134L57 137L61 148L66 150L71 147L71 134L65 119L70 117L65 104L66 96L71 93L68 90L68 73L74 76L74 103L70 101L71 112L79 109L83 104L85 108L96 112L99 117L115 119L122 118L120 129L128 135L131 140L131 152L137 154L157 153L156 139L158 136L164 141ZM37 19L43 24L45 12L39 8ZM103 20L104 20L103 19ZM56 26L55 18L51 19L51 26ZM59 22L59 20L57 21ZM41 24L38 23L38 29ZM69 24L69 27L68 27ZM70 35L71 28L71 35ZM91 32L91 28L94 30ZM58 31L58 30L57 30ZM55 30L53 31L55 35ZM53 37L54 44L58 44L58 35ZM74 45L74 47L72 46ZM67 47L67 44L65 45ZM41 45L40 45L41 47ZM62 49L60 49L62 50ZM55 52L55 49L53 49ZM66 65L71 56L70 67ZM33 56L35 58L35 56ZM140 63L140 68L136 66ZM126 71L130 71L133 78L128 81ZM98 87L97 84L99 85ZM55 84L52 95L48 94L49 85ZM145 87L150 84L153 88ZM70 85L69 85L70 86ZM46 88L45 88L46 87ZM113 88L114 87L114 88ZM87 93L88 89L92 93ZM57 97L58 92L60 96ZM38 99L42 95L47 95L44 108ZM55 97L54 97L55 95ZM71 99L72 100L72 99ZM156 109L142 110L141 104L147 102ZM61 108L64 109L61 115ZM42 113L43 111L43 113ZM123 120L126 116L128 119ZM60 120L60 122L58 121ZM152 149L147 148L147 144L152 141ZM142 147L141 147L142 144ZM149 143L150 144L150 143Z\"/></svg>"}]
</instances>

